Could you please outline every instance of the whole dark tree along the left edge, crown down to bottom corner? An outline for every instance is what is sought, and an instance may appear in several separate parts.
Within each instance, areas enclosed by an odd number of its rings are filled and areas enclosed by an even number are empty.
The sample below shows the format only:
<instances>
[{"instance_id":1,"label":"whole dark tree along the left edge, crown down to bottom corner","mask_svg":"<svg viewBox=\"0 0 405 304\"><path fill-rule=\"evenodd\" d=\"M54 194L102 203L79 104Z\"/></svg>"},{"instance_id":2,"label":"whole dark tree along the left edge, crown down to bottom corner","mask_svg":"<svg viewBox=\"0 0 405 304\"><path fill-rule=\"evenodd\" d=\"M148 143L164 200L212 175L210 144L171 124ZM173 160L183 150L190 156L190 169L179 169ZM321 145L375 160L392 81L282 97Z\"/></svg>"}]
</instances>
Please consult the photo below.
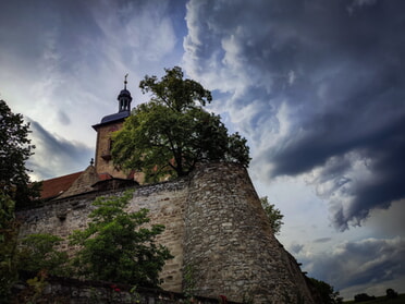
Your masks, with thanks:
<instances>
[{"instance_id":1,"label":"whole dark tree along the left edge, crown down to bottom corner","mask_svg":"<svg viewBox=\"0 0 405 304\"><path fill-rule=\"evenodd\" d=\"M26 160L34 146L27 138L29 124L0 100L0 303L7 301L17 279L19 221L15 207L39 195L39 183L29 183Z\"/></svg>"}]
</instances>

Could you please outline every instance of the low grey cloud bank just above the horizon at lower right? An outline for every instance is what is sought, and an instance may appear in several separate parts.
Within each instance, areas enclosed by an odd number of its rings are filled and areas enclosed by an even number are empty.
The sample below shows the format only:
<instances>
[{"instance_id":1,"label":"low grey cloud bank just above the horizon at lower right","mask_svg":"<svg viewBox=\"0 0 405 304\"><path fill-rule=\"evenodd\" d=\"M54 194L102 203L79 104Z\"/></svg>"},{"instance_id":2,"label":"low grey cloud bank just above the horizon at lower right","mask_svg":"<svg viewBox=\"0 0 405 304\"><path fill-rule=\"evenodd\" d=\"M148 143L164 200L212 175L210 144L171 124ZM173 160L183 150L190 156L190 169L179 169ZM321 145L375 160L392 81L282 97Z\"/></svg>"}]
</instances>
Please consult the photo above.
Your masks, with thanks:
<instances>
[{"instance_id":1,"label":"low grey cloud bank just above the horizon at lower right","mask_svg":"<svg viewBox=\"0 0 405 304\"><path fill-rule=\"evenodd\" d=\"M336 290L393 279L405 281L405 240L368 239L348 242L333 254L300 257L310 276L331 283ZM376 284L376 283L375 283Z\"/></svg>"}]
</instances>

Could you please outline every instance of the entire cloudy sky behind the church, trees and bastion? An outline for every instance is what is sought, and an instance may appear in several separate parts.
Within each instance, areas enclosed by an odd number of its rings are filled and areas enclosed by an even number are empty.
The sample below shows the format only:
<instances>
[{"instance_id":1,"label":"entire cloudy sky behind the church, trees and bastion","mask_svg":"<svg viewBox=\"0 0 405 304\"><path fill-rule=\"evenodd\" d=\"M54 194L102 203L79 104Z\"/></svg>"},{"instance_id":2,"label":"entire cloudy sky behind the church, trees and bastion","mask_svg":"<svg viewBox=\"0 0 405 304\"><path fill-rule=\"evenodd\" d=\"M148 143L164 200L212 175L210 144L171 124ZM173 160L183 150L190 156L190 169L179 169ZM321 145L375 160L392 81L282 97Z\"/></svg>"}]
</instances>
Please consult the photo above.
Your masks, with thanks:
<instances>
[{"instance_id":1,"label":"entire cloudy sky behind the church, trees and bastion","mask_svg":"<svg viewBox=\"0 0 405 304\"><path fill-rule=\"evenodd\" d=\"M345 299L405 292L405 1L0 1L0 98L33 180L84 170L91 125L179 65L247 138L277 238Z\"/></svg>"}]
</instances>

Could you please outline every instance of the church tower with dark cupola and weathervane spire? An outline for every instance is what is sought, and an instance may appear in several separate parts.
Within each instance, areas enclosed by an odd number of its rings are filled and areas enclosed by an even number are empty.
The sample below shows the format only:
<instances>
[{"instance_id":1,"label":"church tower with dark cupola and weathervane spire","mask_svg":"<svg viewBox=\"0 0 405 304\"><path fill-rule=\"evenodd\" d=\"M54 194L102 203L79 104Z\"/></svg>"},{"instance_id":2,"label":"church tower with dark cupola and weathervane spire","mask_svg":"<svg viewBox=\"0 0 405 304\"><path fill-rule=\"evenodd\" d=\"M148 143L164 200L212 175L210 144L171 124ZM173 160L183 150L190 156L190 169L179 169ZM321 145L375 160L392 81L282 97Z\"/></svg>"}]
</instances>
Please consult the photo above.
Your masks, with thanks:
<instances>
[{"instance_id":1,"label":"church tower with dark cupola and weathervane spire","mask_svg":"<svg viewBox=\"0 0 405 304\"><path fill-rule=\"evenodd\" d=\"M112 148L112 133L119 131L124 120L131 114L131 93L126 89L127 74L125 75L124 88L118 96L119 111L116 113L106 115L101 119L101 122L93 125L93 129L97 132L97 144L96 144L96 172L98 174L106 174L110 178L128 179L128 173L118 170L111 159Z\"/></svg>"}]
</instances>

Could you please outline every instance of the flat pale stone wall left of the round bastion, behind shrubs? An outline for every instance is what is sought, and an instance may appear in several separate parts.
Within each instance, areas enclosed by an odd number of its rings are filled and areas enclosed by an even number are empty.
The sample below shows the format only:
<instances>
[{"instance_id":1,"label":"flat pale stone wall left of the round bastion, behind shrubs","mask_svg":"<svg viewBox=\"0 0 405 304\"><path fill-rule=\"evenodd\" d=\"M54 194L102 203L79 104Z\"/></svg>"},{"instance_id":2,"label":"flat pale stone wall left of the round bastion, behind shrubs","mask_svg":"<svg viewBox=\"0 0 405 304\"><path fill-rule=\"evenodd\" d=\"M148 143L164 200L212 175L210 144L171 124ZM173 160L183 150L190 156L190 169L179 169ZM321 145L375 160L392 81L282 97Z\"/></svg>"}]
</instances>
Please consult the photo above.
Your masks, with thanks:
<instances>
[{"instance_id":1,"label":"flat pale stone wall left of the round bastion, behind shrubs","mask_svg":"<svg viewBox=\"0 0 405 304\"><path fill-rule=\"evenodd\" d=\"M182 291L184 206L187 196L187 181L179 180L154 185L134 187L134 196L128 211L140 208L149 209L150 223L164 224L165 229L158 236L158 242L165 245L174 256L165 263L161 278L165 290ZM94 208L91 203L97 196L121 195L124 190L115 192L93 192L71 198L49 202L45 206L23 210L20 236L30 233L52 233L66 238L73 230L85 229L88 215ZM61 248L70 251L68 242Z\"/></svg>"}]
</instances>

